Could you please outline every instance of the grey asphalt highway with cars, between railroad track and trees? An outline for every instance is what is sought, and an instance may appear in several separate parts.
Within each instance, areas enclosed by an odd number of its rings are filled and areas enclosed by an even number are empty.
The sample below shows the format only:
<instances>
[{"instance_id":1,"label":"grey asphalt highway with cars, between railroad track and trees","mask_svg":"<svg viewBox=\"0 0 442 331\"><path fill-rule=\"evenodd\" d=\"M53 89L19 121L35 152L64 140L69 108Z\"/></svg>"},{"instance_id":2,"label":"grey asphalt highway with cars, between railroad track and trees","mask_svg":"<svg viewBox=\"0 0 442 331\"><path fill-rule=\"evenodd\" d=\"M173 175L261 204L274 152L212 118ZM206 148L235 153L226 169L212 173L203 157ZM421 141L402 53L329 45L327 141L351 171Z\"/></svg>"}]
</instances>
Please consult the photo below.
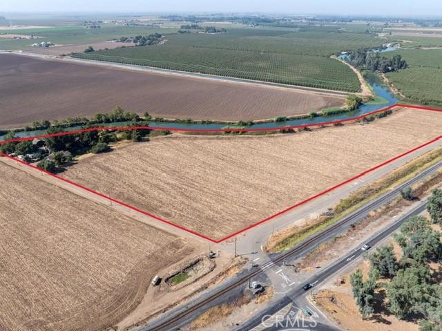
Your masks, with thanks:
<instances>
[{"instance_id":1,"label":"grey asphalt highway with cars, between railroad track and trees","mask_svg":"<svg viewBox=\"0 0 442 331\"><path fill-rule=\"evenodd\" d=\"M409 219L412 216L421 214L425 210L426 205L427 205L427 200L419 202L419 204L414 209L412 209L407 214L399 218L393 225L390 225L390 227L387 227L380 233L376 234L373 238L368 240L367 243L369 243L369 245L371 245L372 247L374 247L378 243L381 243L385 238L387 238L394 231L396 231L407 219ZM318 286L320 283L327 280L327 278L329 278L330 276L333 276L341 269L353 263L362 254L364 254L364 252L361 249L356 249L350 252L349 254L346 254L338 262L334 263L327 269L324 269L320 273L316 274L316 276L309 278L307 283L313 283L315 284L314 286ZM288 292L284 297L282 297L282 299L280 299L278 303L272 305L272 307L268 308L264 312L260 312L260 314L254 316L253 319L251 319L249 322L245 323L244 325L240 325L240 327L237 330L243 330L243 331L255 330L255 328L258 327L258 325L262 324L262 321L265 321L265 318L267 316L276 314L278 311L281 310L281 308L287 306L289 303L294 303L294 302L296 303L296 301L300 298L300 296L305 294L305 290L302 289L302 285L294 287L290 292ZM256 328L256 330L258 330L258 328ZM265 328L264 330L267 330L267 328ZM280 325L279 329L271 328L269 330L283 330L283 328L281 328ZM316 330L316 329L311 328L311 330Z\"/></svg>"}]
</instances>

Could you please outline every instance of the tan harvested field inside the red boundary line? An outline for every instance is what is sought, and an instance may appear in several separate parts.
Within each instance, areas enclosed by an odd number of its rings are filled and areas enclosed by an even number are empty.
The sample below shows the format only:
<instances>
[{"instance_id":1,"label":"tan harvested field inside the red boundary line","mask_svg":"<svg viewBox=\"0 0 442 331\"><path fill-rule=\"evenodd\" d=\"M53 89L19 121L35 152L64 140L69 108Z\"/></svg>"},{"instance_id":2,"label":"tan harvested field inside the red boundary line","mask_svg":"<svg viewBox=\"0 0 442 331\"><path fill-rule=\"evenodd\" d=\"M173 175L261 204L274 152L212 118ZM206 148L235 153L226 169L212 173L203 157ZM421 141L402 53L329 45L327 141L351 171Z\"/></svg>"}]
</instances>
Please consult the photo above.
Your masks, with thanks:
<instances>
[{"instance_id":1,"label":"tan harvested field inside the red boundary line","mask_svg":"<svg viewBox=\"0 0 442 331\"><path fill-rule=\"evenodd\" d=\"M407 109L292 135L174 135L84 158L61 176L222 238L441 135L441 124L441 113Z\"/></svg>"}]
</instances>

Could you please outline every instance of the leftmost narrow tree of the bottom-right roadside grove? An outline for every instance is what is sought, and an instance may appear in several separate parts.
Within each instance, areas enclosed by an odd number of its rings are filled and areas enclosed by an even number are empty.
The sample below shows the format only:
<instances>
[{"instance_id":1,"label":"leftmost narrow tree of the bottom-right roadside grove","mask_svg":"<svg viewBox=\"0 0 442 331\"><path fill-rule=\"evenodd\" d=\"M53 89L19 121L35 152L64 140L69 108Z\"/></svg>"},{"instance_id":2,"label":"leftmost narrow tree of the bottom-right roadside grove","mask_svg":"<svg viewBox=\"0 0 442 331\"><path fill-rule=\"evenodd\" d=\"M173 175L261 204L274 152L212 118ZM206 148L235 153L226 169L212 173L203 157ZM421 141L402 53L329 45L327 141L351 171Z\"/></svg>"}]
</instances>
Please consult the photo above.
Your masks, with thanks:
<instances>
[{"instance_id":1,"label":"leftmost narrow tree of the bottom-right roadside grove","mask_svg":"<svg viewBox=\"0 0 442 331\"><path fill-rule=\"evenodd\" d=\"M361 312L363 319L369 318L374 312L373 299L374 291L377 287L374 274L370 273L367 281L363 281L363 274L361 270L358 269L350 276L350 283L352 284L353 296L354 299L356 299L359 312Z\"/></svg>"}]
</instances>

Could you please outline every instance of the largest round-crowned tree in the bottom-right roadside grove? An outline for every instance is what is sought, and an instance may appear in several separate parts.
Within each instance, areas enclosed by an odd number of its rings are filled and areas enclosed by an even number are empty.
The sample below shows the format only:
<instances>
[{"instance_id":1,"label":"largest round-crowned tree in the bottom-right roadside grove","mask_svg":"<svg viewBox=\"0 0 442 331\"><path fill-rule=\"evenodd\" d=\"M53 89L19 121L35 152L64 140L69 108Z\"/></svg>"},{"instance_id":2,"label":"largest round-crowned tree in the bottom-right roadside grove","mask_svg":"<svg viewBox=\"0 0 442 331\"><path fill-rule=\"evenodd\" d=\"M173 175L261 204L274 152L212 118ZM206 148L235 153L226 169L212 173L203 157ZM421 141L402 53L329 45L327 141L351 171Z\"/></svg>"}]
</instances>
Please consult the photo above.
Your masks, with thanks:
<instances>
[{"instance_id":1,"label":"largest round-crowned tree in the bottom-right roadside grove","mask_svg":"<svg viewBox=\"0 0 442 331\"><path fill-rule=\"evenodd\" d=\"M431 273L428 265L416 265L400 269L387 285L390 311L399 319L407 314L423 312L423 301L431 293L428 284Z\"/></svg>"}]
</instances>

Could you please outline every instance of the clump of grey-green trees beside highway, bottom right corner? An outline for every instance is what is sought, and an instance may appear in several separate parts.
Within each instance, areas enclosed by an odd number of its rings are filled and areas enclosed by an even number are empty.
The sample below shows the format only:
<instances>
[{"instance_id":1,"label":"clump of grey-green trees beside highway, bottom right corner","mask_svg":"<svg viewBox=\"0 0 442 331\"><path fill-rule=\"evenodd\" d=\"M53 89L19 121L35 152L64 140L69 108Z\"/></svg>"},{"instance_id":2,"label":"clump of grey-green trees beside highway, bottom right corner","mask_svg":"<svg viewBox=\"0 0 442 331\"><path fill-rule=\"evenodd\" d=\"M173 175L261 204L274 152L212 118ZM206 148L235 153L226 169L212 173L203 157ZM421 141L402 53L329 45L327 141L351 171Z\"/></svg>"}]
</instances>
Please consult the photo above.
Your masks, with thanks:
<instances>
[{"instance_id":1,"label":"clump of grey-green trees beside highway, bottom right corner","mask_svg":"<svg viewBox=\"0 0 442 331\"><path fill-rule=\"evenodd\" d=\"M358 269L351 276L354 298L363 319L375 312L375 293L385 290L386 308L398 319L419 320L420 330L442 328L442 285L430 263L440 263L441 232L432 223L442 225L442 190L434 189L427 210L430 219L414 216L407 220L394 240L401 247L396 258L393 247L383 246L369 255L371 268L367 279Z\"/></svg>"}]
</instances>

